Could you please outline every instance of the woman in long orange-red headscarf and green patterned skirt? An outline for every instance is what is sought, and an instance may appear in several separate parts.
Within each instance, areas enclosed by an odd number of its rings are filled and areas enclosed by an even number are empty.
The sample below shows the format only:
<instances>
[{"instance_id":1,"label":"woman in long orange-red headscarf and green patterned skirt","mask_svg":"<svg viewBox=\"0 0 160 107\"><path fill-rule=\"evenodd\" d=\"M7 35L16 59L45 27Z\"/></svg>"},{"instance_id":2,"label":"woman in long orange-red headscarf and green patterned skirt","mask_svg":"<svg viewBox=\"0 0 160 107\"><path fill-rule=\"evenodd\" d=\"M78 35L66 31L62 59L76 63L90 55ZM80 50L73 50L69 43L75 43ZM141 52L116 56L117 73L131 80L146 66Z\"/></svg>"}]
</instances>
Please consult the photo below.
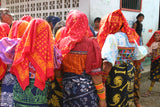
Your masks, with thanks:
<instances>
[{"instance_id":1,"label":"woman in long orange-red headscarf and green patterned skirt","mask_svg":"<svg viewBox=\"0 0 160 107\"><path fill-rule=\"evenodd\" d=\"M49 24L43 19L33 19L16 47L11 67L17 78L13 87L15 107L48 107L48 79L54 77L58 63L55 51Z\"/></svg>"}]
</instances>

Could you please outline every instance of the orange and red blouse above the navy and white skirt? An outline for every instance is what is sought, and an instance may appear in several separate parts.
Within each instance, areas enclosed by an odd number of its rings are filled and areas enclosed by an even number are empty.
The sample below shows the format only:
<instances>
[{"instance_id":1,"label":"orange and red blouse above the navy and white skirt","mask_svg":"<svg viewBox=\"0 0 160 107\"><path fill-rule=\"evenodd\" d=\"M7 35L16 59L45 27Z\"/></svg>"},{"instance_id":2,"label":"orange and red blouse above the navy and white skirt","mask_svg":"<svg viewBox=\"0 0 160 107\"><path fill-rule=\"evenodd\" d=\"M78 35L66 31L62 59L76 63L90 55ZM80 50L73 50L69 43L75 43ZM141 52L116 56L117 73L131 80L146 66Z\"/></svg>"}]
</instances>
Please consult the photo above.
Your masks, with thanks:
<instances>
[{"instance_id":1,"label":"orange and red blouse above the navy and white skirt","mask_svg":"<svg viewBox=\"0 0 160 107\"><path fill-rule=\"evenodd\" d=\"M96 41L84 37L64 57L62 67L64 72L82 74L84 71L90 75L97 75L101 72L101 54Z\"/></svg>"}]
</instances>

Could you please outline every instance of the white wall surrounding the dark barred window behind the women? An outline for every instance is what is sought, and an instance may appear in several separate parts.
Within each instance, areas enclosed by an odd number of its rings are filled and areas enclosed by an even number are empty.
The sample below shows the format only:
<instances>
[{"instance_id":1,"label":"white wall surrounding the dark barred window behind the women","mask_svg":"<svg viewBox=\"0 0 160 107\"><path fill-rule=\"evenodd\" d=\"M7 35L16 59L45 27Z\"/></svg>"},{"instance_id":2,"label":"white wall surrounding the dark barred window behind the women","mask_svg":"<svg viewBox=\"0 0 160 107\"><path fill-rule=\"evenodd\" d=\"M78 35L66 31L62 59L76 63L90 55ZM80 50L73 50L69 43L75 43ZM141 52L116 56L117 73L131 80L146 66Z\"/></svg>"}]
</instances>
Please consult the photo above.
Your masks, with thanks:
<instances>
[{"instance_id":1,"label":"white wall surrounding the dark barred window behind the women","mask_svg":"<svg viewBox=\"0 0 160 107\"><path fill-rule=\"evenodd\" d=\"M142 0L142 13L145 15L143 21L143 40L144 44L150 39L159 23L159 0ZM106 14L120 9L120 0L90 0L90 23L93 25L95 17L103 17ZM130 27L136 21L139 12L122 11ZM152 32L148 32L152 30Z\"/></svg>"}]
</instances>

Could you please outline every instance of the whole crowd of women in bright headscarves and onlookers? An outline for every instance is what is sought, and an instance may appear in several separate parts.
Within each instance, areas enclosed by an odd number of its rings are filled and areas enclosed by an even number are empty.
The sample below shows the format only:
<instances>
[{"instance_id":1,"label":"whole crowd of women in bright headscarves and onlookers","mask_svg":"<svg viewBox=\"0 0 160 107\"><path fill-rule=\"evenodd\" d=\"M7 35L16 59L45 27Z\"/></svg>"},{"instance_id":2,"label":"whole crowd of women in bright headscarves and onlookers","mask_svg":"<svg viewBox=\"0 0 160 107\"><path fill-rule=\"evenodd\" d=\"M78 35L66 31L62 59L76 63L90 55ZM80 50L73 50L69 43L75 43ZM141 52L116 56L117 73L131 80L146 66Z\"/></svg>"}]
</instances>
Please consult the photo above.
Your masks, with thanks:
<instances>
[{"instance_id":1,"label":"whole crowd of women in bright headscarves and onlookers","mask_svg":"<svg viewBox=\"0 0 160 107\"><path fill-rule=\"evenodd\" d=\"M12 23L1 9L1 107L141 107L140 65L147 55L152 82L144 96L160 81L160 32L147 43L148 54L140 45L141 16L135 30L121 10L97 17L92 28L78 10L66 22L27 15Z\"/></svg>"}]
</instances>

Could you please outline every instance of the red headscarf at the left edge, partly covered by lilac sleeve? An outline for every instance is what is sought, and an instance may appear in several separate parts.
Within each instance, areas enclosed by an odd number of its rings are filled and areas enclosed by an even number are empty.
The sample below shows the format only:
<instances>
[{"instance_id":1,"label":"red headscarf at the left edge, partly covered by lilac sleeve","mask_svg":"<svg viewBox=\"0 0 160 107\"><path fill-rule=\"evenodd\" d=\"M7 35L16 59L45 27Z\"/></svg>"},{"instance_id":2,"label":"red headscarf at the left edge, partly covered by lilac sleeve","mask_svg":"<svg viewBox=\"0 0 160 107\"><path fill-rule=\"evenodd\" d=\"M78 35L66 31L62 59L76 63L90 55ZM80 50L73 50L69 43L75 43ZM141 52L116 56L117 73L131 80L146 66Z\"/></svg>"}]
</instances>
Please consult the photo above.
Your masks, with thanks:
<instances>
[{"instance_id":1,"label":"red headscarf at the left edge, partly covered by lilac sleeve","mask_svg":"<svg viewBox=\"0 0 160 107\"><path fill-rule=\"evenodd\" d=\"M7 23L0 23L0 39L7 37L10 31L10 27ZM7 64L3 63L0 59L0 80L4 77L7 70Z\"/></svg>"}]
</instances>

